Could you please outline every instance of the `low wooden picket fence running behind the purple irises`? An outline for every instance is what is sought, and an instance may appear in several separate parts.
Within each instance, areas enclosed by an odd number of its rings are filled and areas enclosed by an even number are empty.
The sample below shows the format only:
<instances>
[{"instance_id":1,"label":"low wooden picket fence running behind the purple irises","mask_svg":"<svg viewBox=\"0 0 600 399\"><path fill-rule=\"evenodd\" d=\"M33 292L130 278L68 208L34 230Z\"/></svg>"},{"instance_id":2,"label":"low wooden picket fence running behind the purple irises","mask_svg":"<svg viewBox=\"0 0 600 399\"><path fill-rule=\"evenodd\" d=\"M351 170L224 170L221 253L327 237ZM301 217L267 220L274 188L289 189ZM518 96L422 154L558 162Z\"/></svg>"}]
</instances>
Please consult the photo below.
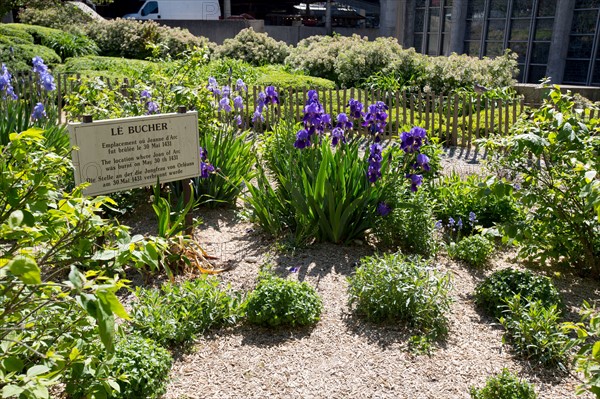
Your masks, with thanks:
<instances>
[{"instance_id":1,"label":"low wooden picket fence running behind the purple irises","mask_svg":"<svg viewBox=\"0 0 600 399\"><path fill-rule=\"evenodd\" d=\"M62 112L64 97L77 90L80 81L81 76L78 74L59 74L55 77L56 101L61 123L66 122ZM107 87L120 90L124 95L139 96L139 93L130 90L135 84L131 80L105 78L103 81ZM18 93L35 90L31 77L22 76L20 82L22 84L15 87ZM255 104L259 93L264 89L265 87L261 86L251 86L245 93L245 107L241 115L243 126L260 133L271 129L282 118L302 121L309 88L281 88L278 89L279 106L266 108L263 114L264 123L253 123ZM356 88L320 89L317 93L325 112L332 116L348 112L347 104L352 98L365 105L364 111L367 111L369 104L383 101L389 107L388 124L384 133L386 137L397 137L402 131L418 125L424 127L430 137L438 137L442 144L461 147L470 147L475 140L489 137L491 134L507 135L525 108L522 99L492 100L481 94L389 93ZM223 112L215 112L219 117L224 116ZM366 128L362 128L360 132L366 133Z\"/></svg>"}]
</instances>

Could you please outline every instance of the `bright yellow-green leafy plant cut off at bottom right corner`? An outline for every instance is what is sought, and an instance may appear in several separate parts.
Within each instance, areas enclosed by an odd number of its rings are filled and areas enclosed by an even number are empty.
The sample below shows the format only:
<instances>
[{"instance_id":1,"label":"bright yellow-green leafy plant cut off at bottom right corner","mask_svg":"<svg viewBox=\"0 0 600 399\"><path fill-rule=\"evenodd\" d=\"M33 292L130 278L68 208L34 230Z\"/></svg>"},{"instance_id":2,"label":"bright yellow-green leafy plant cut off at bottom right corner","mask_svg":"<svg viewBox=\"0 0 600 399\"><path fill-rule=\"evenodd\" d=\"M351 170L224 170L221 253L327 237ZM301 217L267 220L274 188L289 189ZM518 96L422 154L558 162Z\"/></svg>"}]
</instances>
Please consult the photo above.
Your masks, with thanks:
<instances>
[{"instance_id":1,"label":"bright yellow-green leafy plant cut off at bottom right corner","mask_svg":"<svg viewBox=\"0 0 600 399\"><path fill-rule=\"evenodd\" d=\"M598 311L583 302L581 309L582 320L579 323L565 323L569 331L577 333L581 348L574 356L574 363L578 372L583 373L585 380L577 387L577 394L586 391L600 398L600 315Z\"/></svg>"}]
</instances>

